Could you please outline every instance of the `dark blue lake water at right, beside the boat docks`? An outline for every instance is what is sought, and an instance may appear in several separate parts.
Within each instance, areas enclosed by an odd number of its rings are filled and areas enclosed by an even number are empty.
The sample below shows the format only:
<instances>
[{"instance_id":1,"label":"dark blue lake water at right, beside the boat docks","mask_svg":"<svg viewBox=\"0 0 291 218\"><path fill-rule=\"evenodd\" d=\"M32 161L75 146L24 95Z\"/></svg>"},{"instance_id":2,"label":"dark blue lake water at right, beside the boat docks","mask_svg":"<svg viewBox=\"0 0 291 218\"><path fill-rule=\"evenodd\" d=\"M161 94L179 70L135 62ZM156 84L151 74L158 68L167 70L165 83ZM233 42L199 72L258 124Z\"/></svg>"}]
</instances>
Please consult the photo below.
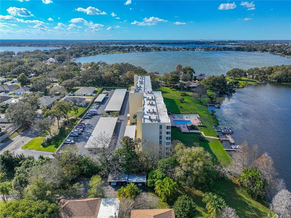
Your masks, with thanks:
<instances>
[{"instance_id":1,"label":"dark blue lake water at right, beside the boat docks","mask_svg":"<svg viewBox=\"0 0 291 218\"><path fill-rule=\"evenodd\" d=\"M236 89L215 109L219 127L230 127L236 145L247 140L274 160L278 177L291 190L291 85L253 85ZM230 147L228 142L223 143Z\"/></svg>"}]
</instances>

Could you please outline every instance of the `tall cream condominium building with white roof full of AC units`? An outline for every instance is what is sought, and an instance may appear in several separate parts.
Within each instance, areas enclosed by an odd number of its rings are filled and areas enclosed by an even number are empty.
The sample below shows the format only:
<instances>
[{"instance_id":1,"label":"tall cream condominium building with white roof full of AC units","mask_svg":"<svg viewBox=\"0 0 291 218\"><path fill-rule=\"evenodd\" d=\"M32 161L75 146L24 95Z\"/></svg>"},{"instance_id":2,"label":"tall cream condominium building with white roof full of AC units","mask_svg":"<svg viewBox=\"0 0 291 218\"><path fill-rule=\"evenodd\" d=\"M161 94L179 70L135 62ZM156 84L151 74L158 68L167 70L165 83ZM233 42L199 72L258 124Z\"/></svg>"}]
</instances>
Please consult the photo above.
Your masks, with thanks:
<instances>
[{"instance_id":1,"label":"tall cream condominium building with white roof full of AC units","mask_svg":"<svg viewBox=\"0 0 291 218\"><path fill-rule=\"evenodd\" d=\"M137 138L159 145L166 157L170 156L171 121L162 93L152 91L150 76L134 75L134 86L129 92L129 120L136 123Z\"/></svg>"}]
</instances>

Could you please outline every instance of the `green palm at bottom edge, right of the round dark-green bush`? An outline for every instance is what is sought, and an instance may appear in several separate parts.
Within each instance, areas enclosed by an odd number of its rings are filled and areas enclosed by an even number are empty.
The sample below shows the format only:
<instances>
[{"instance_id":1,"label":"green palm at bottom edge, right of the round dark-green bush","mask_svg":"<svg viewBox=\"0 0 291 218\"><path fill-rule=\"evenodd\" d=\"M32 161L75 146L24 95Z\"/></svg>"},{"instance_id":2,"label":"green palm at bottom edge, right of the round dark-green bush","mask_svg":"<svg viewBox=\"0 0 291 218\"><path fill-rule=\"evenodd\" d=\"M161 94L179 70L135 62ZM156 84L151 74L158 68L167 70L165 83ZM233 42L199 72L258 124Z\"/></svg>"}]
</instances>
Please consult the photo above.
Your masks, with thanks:
<instances>
[{"instance_id":1,"label":"green palm at bottom edge, right of the round dark-green bush","mask_svg":"<svg viewBox=\"0 0 291 218\"><path fill-rule=\"evenodd\" d=\"M207 192L204 194L202 201L206 203L206 210L210 213L211 218L217 218L222 208L226 205L225 201L216 194Z\"/></svg>"}]
</instances>

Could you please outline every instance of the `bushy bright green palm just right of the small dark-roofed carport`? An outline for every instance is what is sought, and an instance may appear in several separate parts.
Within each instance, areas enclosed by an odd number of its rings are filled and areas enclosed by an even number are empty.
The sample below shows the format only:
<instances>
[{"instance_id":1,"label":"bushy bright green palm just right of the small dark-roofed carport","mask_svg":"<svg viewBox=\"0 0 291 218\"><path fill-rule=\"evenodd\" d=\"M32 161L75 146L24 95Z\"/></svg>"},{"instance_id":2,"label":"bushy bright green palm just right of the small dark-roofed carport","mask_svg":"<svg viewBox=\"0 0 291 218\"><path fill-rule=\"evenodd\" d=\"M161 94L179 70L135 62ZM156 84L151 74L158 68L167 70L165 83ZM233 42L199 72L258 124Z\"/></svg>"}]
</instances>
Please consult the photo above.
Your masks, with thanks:
<instances>
[{"instance_id":1,"label":"bushy bright green palm just right of the small dark-roofed carport","mask_svg":"<svg viewBox=\"0 0 291 218\"><path fill-rule=\"evenodd\" d=\"M178 184L170 177L165 177L163 180L156 181L155 186L156 194L165 202L172 199L178 188Z\"/></svg>"}]
</instances>

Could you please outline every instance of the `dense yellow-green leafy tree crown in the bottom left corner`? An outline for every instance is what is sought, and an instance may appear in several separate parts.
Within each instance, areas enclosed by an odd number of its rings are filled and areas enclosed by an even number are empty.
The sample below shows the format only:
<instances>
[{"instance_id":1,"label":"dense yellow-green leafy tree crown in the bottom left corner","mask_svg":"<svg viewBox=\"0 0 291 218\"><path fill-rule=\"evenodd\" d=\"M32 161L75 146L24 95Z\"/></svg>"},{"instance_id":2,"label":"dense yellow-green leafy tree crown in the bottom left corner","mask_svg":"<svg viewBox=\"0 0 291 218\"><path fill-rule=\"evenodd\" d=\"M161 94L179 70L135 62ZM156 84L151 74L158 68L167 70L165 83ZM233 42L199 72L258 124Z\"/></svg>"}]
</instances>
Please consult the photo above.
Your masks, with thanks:
<instances>
[{"instance_id":1,"label":"dense yellow-green leafy tree crown in the bottom left corner","mask_svg":"<svg viewBox=\"0 0 291 218\"><path fill-rule=\"evenodd\" d=\"M51 218L59 210L55 203L28 199L13 200L0 207L3 218Z\"/></svg>"}]
</instances>

